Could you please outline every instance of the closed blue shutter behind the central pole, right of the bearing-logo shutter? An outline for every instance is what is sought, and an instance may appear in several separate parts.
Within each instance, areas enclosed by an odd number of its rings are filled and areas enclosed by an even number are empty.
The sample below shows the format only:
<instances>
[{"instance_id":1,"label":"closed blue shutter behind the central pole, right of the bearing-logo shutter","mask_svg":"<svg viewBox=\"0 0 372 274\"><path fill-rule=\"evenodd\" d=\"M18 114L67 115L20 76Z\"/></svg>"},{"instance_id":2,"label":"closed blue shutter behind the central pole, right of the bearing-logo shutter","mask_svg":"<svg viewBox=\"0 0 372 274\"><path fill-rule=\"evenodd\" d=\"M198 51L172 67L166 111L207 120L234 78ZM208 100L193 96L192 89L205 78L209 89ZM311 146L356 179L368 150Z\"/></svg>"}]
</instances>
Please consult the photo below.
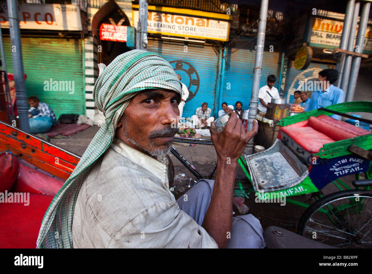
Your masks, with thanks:
<instances>
[{"instance_id":1,"label":"closed blue shutter behind the central pole, right of the bearing-logo shutter","mask_svg":"<svg viewBox=\"0 0 372 274\"><path fill-rule=\"evenodd\" d=\"M232 52L232 54L227 55L222 99L228 105L233 105L234 108L236 101L241 101L243 109L247 110L251 100L256 51L245 48L235 50L236 48L229 47L226 53L230 54ZM264 51L260 87L266 85L267 76L273 74L277 78L275 87L278 88L279 72L279 53ZM228 89L229 87L230 89ZM219 109L222 108L221 105L218 107Z\"/></svg>"}]
</instances>

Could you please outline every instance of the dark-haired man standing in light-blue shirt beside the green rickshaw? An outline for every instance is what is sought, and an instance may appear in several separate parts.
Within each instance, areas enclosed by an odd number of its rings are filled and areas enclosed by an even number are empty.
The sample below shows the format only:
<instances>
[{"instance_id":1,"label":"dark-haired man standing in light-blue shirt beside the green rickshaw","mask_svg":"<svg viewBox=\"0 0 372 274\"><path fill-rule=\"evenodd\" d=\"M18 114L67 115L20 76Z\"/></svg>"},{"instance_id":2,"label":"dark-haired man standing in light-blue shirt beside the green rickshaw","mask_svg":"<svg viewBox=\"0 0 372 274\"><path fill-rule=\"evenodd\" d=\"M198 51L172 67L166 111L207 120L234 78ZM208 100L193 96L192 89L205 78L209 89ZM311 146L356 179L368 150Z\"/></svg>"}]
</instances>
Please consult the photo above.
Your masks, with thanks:
<instances>
[{"instance_id":1,"label":"dark-haired man standing in light-blue shirt beside the green rickshaw","mask_svg":"<svg viewBox=\"0 0 372 274\"><path fill-rule=\"evenodd\" d=\"M307 111L344 102L345 94L343 90L333 85L338 76L339 73L336 69L324 69L319 72L318 83L320 83L320 88L312 93ZM341 120L341 116L336 114L331 115L331 117Z\"/></svg>"}]
</instances>

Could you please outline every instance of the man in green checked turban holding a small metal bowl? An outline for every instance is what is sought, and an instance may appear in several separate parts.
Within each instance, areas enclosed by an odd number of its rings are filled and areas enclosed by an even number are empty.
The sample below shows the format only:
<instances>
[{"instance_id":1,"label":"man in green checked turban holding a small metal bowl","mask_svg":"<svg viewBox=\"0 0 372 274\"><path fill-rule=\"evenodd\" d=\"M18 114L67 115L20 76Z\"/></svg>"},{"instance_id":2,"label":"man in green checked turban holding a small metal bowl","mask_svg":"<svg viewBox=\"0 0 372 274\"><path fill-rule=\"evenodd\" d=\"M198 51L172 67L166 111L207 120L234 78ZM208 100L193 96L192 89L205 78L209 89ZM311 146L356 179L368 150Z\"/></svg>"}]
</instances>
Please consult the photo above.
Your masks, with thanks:
<instances>
[{"instance_id":1,"label":"man in green checked turban holding a small metal bowl","mask_svg":"<svg viewBox=\"0 0 372 274\"><path fill-rule=\"evenodd\" d=\"M160 156L178 130L181 94L158 53L132 50L100 67L93 97L105 123L49 205L38 248L264 247L259 221L231 214L237 159L257 121L245 133L231 113L211 136L216 180L201 180L179 201L170 192Z\"/></svg>"}]
</instances>

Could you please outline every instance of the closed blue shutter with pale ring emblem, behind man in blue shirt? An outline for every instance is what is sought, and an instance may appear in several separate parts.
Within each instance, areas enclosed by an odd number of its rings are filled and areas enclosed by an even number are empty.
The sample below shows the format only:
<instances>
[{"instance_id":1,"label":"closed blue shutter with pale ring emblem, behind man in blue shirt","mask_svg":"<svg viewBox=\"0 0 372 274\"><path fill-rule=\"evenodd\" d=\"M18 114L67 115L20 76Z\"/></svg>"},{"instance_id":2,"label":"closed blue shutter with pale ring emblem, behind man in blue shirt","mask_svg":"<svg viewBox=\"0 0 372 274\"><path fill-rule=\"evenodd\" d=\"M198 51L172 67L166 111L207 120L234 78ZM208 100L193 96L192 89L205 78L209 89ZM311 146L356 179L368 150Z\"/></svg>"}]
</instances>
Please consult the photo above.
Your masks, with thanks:
<instances>
[{"instance_id":1,"label":"closed blue shutter with pale ring emblem, behind man in blue shirt","mask_svg":"<svg viewBox=\"0 0 372 274\"><path fill-rule=\"evenodd\" d=\"M290 66L291 62L289 62ZM287 100L287 103L294 103L295 98L293 93L298 90L299 81L316 81L318 79L318 73L323 69L334 69L335 66L331 64L319 64L319 63L310 63L307 69L299 70L295 67L289 67L287 69L287 76L285 79L284 95L283 99ZM312 91L308 91L309 97Z\"/></svg>"}]
</instances>

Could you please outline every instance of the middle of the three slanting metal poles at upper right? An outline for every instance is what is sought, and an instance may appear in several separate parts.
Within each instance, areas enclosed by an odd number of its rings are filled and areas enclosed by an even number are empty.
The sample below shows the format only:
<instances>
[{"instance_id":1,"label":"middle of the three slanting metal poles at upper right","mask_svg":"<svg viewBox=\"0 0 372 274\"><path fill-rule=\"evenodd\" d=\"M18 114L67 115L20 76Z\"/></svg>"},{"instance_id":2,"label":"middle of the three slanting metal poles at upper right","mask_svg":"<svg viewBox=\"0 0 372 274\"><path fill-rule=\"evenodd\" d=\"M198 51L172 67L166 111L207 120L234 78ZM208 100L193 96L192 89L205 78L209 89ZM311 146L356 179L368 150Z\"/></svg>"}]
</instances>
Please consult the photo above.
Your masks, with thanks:
<instances>
[{"instance_id":1,"label":"middle of the three slanting metal poles at upper right","mask_svg":"<svg viewBox=\"0 0 372 274\"><path fill-rule=\"evenodd\" d=\"M348 41L348 45L347 45L347 50L348 51L353 51L353 48L354 48L356 25L358 23L358 15L359 15L359 8L360 8L360 2L355 3L353 21L352 21L352 24L351 24L350 34L349 34L349 41ZM353 59L353 56L351 56L351 55L347 55L345 57L343 76L342 76L342 80L341 80L341 89L344 92L347 91L347 85L349 84L350 67L351 67L352 59Z\"/></svg>"}]
</instances>

